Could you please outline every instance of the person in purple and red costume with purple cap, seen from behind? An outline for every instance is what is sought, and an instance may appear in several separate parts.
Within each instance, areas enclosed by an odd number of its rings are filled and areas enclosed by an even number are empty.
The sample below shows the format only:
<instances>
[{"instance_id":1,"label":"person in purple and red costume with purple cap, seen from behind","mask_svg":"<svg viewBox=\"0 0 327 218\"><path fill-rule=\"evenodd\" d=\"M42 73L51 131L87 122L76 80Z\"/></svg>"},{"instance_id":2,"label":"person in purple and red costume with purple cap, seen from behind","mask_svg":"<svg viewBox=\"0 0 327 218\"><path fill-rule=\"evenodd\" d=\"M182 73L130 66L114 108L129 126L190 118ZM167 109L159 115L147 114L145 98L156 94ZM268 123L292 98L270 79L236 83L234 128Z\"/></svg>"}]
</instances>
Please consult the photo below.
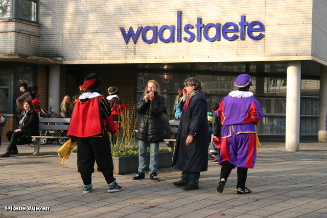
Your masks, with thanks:
<instances>
[{"instance_id":1,"label":"person in purple and red costume with purple cap, seen from behind","mask_svg":"<svg viewBox=\"0 0 327 218\"><path fill-rule=\"evenodd\" d=\"M238 90L231 91L221 100L216 115L221 117L221 167L218 192L223 192L231 170L237 167L237 193L251 193L245 186L248 168L253 168L256 156L255 124L264 116L261 105L253 93L249 91L252 85L251 77L239 75L235 80Z\"/></svg>"}]
</instances>

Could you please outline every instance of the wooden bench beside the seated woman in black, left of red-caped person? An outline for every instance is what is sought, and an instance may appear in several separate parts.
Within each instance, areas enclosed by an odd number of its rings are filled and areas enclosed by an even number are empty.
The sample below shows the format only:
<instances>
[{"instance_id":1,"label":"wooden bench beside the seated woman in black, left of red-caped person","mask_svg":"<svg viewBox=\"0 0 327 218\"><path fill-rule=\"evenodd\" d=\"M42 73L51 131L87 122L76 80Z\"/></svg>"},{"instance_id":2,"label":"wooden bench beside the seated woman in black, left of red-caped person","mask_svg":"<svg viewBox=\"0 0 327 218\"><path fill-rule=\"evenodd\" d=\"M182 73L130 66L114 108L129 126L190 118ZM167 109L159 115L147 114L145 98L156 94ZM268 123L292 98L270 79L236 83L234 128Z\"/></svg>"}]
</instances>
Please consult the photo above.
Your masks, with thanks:
<instances>
[{"instance_id":1,"label":"wooden bench beside the seated woman in black, left of red-caped person","mask_svg":"<svg viewBox=\"0 0 327 218\"><path fill-rule=\"evenodd\" d=\"M71 118L39 117L40 135L32 135L32 141L35 143L33 156L38 156L40 154L41 138L45 138L45 139L64 138L64 139L67 139L66 136L44 136L44 135L42 135L43 130L60 130L60 131L68 130L69 125L56 125L56 123L69 124L69 122L71 122Z\"/></svg>"}]
</instances>

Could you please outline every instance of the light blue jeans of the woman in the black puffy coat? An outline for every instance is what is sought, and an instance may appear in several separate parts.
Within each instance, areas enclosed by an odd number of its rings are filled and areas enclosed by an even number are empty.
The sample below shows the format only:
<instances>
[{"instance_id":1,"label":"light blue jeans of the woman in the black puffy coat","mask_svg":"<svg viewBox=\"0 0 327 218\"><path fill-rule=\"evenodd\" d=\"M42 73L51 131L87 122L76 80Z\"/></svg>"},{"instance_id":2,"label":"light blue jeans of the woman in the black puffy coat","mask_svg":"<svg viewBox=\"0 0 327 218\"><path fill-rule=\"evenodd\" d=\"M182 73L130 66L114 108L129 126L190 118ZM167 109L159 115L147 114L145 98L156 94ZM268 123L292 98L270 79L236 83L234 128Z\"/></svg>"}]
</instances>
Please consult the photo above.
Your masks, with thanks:
<instances>
[{"instance_id":1,"label":"light blue jeans of the woman in the black puffy coat","mask_svg":"<svg viewBox=\"0 0 327 218\"><path fill-rule=\"evenodd\" d=\"M150 174L157 172L159 142L138 141L138 172L144 173L147 167L147 148L150 146Z\"/></svg>"}]
</instances>

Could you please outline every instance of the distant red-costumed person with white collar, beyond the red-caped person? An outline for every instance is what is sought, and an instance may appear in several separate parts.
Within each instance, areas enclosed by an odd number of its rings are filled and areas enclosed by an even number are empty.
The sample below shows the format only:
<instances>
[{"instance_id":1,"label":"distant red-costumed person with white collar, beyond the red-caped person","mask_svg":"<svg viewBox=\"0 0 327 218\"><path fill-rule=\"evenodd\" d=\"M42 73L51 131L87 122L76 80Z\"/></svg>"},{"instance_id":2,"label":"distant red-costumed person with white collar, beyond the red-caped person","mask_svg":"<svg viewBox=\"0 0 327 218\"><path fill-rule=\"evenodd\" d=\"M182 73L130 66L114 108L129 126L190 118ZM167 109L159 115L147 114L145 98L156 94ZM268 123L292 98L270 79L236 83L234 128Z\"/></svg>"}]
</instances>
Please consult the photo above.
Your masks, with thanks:
<instances>
[{"instance_id":1,"label":"distant red-costumed person with white collar, beyond the red-caped person","mask_svg":"<svg viewBox=\"0 0 327 218\"><path fill-rule=\"evenodd\" d=\"M115 86L111 86L108 88L109 96L107 100L109 101L109 105L111 107L111 115L114 122L114 130L116 131L113 134L113 143L116 144L117 136L119 134L119 130L122 125L122 117L121 112L125 110L126 104L122 104L121 100L118 98L118 88Z\"/></svg>"}]
</instances>

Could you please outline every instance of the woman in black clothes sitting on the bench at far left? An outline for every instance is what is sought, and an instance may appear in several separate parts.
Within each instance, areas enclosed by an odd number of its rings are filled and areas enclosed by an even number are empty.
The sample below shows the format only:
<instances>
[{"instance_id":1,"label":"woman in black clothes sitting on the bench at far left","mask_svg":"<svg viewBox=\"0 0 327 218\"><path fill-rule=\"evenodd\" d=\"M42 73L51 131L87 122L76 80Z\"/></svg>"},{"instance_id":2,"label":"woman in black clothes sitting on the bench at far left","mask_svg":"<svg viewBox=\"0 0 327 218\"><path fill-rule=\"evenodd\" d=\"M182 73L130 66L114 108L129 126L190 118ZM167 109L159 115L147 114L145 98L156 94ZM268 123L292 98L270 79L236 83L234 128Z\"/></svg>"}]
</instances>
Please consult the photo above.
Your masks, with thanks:
<instances>
[{"instance_id":1,"label":"woman in black clothes sitting on the bench at far left","mask_svg":"<svg viewBox=\"0 0 327 218\"><path fill-rule=\"evenodd\" d=\"M31 135L38 135L39 117L34 110L31 100L26 99L23 103L23 113L20 116L16 130L7 132L9 146L7 151L0 155L9 157L11 154L18 154L17 144L27 144L31 141Z\"/></svg>"}]
</instances>

